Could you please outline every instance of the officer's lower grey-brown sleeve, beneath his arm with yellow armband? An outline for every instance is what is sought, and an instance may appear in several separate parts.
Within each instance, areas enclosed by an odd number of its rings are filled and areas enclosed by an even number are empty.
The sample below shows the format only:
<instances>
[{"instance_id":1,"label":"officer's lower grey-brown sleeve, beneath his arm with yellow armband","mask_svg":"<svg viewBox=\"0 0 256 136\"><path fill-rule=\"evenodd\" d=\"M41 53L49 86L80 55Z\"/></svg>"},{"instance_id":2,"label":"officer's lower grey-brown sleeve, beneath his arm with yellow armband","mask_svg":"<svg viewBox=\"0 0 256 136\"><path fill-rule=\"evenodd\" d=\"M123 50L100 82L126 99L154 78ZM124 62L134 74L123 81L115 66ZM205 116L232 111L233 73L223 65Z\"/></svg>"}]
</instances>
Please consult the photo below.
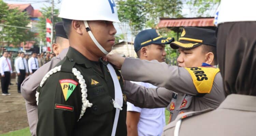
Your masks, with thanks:
<instances>
[{"instance_id":1,"label":"officer's lower grey-brown sleeve, beneath his arm with yellow armband","mask_svg":"<svg viewBox=\"0 0 256 136\"><path fill-rule=\"evenodd\" d=\"M163 87L146 88L130 81L125 81L124 94L127 101L140 108L166 107L172 100L173 91Z\"/></svg>"}]
</instances>

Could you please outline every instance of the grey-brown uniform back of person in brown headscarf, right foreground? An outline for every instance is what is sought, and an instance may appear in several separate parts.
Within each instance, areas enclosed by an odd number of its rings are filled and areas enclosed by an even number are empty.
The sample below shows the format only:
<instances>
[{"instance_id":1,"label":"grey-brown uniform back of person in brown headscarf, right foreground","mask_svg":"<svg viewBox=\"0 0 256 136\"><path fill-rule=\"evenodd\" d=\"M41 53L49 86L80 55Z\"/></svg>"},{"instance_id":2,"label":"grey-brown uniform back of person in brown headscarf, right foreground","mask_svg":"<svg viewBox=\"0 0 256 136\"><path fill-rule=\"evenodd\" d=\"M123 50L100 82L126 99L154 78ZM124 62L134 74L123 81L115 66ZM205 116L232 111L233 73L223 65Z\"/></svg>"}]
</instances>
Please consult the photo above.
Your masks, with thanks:
<instances>
[{"instance_id":1,"label":"grey-brown uniform back of person in brown headscarf, right foreground","mask_svg":"<svg viewBox=\"0 0 256 136\"><path fill-rule=\"evenodd\" d=\"M231 94L214 111L200 111L200 115L185 119L182 117L189 115L180 115L165 126L162 136L173 136L174 130L179 136L254 136L255 102L255 96ZM176 125L178 121L180 126Z\"/></svg>"}]
</instances>

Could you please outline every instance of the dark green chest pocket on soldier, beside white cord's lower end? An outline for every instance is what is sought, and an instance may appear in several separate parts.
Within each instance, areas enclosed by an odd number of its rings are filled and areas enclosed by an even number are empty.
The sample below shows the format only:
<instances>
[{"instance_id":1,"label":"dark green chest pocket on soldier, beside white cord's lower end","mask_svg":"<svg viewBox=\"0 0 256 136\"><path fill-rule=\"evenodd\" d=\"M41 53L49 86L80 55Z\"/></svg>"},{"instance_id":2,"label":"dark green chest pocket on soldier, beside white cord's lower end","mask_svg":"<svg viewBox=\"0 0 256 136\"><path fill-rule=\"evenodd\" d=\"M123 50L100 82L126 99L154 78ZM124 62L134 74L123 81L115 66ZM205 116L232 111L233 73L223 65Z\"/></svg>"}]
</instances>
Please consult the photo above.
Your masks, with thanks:
<instances>
[{"instance_id":1,"label":"dark green chest pocket on soldier, beside white cord's lower end","mask_svg":"<svg viewBox=\"0 0 256 136\"><path fill-rule=\"evenodd\" d=\"M112 98L108 95L97 97L91 100L91 103L91 112L95 115L111 112L114 108Z\"/></svg>"}]
</instances>

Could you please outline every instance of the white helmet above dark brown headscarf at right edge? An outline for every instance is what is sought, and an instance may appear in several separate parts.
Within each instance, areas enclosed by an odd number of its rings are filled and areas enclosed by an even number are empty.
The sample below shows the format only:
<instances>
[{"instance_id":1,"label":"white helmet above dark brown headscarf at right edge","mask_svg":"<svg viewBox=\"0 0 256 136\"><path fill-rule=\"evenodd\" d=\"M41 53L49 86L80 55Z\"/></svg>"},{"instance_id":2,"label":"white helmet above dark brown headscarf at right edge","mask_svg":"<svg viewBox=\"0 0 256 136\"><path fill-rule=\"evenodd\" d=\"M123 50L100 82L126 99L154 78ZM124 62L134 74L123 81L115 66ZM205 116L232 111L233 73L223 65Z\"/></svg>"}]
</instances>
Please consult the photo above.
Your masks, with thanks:
<instances>
[{"instance_id":1,"label":"white helmet above dark brown headscarf at right edge","mask_svg":"<svg viewBox=\"0 0 256 136\"><path fill-rule=\"evenodd\" d=\"M224 22L256 21L256 0L221 0L217 24Z\"/></svg>"}]
</instances>

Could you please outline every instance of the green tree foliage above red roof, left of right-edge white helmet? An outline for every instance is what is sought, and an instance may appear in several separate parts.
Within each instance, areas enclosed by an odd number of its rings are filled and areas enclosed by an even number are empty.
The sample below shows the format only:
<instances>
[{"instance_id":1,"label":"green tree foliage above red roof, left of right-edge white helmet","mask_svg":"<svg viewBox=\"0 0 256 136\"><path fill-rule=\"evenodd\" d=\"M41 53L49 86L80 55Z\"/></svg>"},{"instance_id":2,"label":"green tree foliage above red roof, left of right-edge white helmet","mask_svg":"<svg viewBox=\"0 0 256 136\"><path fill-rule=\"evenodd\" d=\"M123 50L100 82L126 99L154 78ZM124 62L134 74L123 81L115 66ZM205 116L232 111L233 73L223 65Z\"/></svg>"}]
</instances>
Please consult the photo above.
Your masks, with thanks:
<instances>
[{"instance_id":1,"label":"green tree foliage above red roof, left of right-edge white helmet","mask_svg":"<svg viewBox=\"0 0 256 136\"><path fill-rule=\"evenodd\" d=\"M192 6L192 8L197 8L197 16L210 16L205 14L205 11L214 7L214 5L219 4L221 0L189 0L187 2L188 5Z\"/></svg>"}]
</instances>

